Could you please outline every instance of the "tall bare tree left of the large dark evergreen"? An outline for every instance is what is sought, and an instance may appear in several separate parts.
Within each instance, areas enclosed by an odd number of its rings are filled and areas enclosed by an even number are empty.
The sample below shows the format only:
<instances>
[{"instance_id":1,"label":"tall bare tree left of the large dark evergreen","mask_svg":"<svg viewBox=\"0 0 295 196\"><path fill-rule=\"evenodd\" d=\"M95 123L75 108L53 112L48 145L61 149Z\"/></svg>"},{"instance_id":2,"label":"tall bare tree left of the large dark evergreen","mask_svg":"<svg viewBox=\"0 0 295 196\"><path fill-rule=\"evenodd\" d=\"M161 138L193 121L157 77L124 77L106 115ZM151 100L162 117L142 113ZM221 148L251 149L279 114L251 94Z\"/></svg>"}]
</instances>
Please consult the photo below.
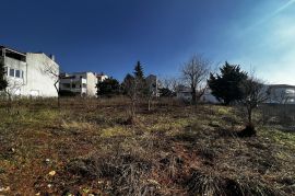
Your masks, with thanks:
<instances>
[{"instance_id":1,"label":"tall bare tree left of the large dark evergreen","mask_svg":"<svg viewBox=\"0 0 295 196\"><path fill-rule=\"evenodd\" d=\"M206 89L206 79L211 62L202 55L193 55L181 69L182 78L191 89L191 101L196 104L204 94Z\"/></svg>"}]
</instances>

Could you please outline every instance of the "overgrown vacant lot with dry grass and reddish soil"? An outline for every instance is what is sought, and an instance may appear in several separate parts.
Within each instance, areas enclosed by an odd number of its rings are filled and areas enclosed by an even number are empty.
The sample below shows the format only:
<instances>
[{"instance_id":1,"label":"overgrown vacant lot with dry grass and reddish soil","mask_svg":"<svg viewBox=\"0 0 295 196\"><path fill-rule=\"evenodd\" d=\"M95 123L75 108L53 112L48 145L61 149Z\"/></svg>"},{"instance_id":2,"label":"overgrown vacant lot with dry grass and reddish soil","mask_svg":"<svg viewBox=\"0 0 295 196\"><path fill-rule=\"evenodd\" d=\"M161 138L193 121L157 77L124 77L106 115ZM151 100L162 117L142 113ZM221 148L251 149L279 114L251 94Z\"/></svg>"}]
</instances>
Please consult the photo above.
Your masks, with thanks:
<instances>
[{"instance_id":1,"label":"overgrown vacant lot with dry grass and reddish soil","mask_svg":"<svg viewBox=\"0 0 295 196\"><path fill-rule=\"evenodd\" d=\"M0 108L0 195L295 195L295 134L233 107L121 100ZM259 119L259 114L256 115Z\"/></svg>"}]
</instances>

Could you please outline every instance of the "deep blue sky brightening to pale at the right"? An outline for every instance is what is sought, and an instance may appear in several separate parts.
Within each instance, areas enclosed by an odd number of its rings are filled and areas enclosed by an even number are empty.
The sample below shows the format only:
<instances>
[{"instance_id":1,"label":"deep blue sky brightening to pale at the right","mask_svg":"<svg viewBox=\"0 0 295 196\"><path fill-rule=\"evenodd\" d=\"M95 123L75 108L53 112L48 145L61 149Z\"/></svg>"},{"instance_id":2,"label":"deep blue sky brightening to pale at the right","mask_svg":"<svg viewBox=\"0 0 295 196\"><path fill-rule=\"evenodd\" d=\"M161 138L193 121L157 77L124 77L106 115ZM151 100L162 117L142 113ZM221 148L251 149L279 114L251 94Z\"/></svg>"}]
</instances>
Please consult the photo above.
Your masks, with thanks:
<instances>
[{"instance_id":1,"label":"deep blue sky brightening to pale at the right","mask_svg":"<svg viewBox=\"0 0 295 196\"><path fill-rule=\"evenodd\" d=\"M193 54L295 84L295 0L11 0L1 2L0 45L55 54L64 71L119 80L177 76Z\"/></svg>"}]
</instances>

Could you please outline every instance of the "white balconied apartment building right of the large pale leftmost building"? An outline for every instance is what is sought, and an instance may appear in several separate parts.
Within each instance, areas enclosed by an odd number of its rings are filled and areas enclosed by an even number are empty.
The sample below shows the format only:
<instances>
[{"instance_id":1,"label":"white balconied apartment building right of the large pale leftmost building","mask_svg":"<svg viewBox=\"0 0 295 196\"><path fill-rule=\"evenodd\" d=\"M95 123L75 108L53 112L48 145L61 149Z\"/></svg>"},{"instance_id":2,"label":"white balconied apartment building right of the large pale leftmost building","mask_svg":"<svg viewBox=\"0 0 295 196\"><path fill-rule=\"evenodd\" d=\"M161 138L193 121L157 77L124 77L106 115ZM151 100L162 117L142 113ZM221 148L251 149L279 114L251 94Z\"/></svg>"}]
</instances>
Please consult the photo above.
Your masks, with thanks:
<instances>
[{"instance_id":1,"label":"white balconied apartment building right of the large pale leftmost building","mask_svg":"<svg viewBox=\"0 0 295 196\"><path fill-rule=\"evenodd\" d=\"M93 72L62 73L59 89L80 96L96 96L96 84L107 78L105 74Z\"/></svg>"}]
</instances>

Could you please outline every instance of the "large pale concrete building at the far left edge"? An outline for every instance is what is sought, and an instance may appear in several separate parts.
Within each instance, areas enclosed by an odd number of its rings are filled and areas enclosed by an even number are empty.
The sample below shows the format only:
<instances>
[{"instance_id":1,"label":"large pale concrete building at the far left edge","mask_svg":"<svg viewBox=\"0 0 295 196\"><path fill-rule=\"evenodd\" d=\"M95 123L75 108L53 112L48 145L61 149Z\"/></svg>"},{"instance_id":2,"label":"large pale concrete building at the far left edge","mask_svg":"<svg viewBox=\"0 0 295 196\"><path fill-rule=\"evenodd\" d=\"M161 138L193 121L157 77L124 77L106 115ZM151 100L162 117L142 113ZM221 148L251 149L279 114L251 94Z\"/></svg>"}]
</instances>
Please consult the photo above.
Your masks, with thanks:
<instances>
[{"instance_id":1,"label":"large pale concrete building at the far left edge","mask_svg":"<svg viewBox=\"0 0 295 196\"><path fill-rule=\"evenodd\" d=\"M0 46L0 60L4 62L9 87L7 92L21 96L58 96L59 65L54 56L44 53L20 53ZM56 84L58 87L58 83Z\"/></svg>"}]
</instances>

